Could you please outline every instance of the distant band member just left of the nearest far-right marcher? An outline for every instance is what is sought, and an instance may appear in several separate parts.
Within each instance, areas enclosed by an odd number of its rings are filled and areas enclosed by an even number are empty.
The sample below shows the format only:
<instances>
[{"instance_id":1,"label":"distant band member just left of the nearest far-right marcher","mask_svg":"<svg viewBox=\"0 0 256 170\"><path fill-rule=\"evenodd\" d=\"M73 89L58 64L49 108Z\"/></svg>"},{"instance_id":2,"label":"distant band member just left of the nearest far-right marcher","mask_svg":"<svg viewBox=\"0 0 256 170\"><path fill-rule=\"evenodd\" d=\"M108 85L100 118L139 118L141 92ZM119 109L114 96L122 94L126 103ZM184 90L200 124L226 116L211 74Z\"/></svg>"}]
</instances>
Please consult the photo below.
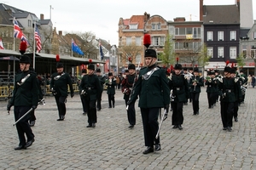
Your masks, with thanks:
<instances>
[{"instance_id":1,"label":"distant band member just left of the nearest far-right marcher","mask_svg":"<svg viewBox=\"0 0 256 170\"><path fill-rule=\"evenodd\" d=\"M215 78L215 73L213 70L208 71L208 77L206 77L207 85L207 99L208 99L208 108L212 109L216 102L216 93L217 91L217 78Z\"/></svg>"}]
</instances>

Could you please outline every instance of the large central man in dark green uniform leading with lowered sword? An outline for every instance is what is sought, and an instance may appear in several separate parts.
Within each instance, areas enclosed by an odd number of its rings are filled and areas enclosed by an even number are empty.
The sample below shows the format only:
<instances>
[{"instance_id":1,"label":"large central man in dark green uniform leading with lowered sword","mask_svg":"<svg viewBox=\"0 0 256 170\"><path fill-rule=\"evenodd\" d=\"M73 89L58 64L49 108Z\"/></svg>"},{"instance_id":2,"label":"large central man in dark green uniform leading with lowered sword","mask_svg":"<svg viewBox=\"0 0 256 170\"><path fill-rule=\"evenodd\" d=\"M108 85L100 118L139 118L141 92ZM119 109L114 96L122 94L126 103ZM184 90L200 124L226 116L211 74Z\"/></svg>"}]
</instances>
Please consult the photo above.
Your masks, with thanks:
<instances>
[{"instance_id":1,"label":"large central man in dark green uniform leading with lowered sword","mask_svg":"<svg viewBox=\"0 0 256 170\"><path fill-rule=\"evenodd\" d=\"M139 71L139 77L131 92L131 99L127 105L135 102L139 95L138 106L143 118L143 131L147 149L143 154L160 150L160 137L155 139L159 129L158 117L160 108L166 112L170 105L170 89L167 83L166 71L156 66L157 55L154 49L145 50L145 65ZM154 148L155 144L155 148Z\"/></svg>"}]
</instances>

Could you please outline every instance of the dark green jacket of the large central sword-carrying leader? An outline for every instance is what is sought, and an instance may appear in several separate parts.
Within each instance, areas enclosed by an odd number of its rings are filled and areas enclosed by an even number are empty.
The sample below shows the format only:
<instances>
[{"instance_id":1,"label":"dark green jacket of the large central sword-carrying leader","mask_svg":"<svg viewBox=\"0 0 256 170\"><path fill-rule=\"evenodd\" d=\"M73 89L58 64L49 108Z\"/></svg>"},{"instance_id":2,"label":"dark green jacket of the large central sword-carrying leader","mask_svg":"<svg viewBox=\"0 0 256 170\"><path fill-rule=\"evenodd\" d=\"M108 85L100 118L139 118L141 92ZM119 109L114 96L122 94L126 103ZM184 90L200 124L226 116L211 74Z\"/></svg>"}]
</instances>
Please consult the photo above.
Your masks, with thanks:
<instances>
[{"instance_id":1,"label":"dark green jacket of the large central sword-carrying leader","mask_svg":"<svg viewBox=\"0 0 256 170\"><path fill-rule=\"evenodd\" d=\"M131 93L131 102L139 95L138 106L141 108L160 108L170 104L170 88L168 87L166 71L158 67L144 67L139 71L139 77ZM148 80L147 73L156 69Z\"/></svg>"}]
</instances>

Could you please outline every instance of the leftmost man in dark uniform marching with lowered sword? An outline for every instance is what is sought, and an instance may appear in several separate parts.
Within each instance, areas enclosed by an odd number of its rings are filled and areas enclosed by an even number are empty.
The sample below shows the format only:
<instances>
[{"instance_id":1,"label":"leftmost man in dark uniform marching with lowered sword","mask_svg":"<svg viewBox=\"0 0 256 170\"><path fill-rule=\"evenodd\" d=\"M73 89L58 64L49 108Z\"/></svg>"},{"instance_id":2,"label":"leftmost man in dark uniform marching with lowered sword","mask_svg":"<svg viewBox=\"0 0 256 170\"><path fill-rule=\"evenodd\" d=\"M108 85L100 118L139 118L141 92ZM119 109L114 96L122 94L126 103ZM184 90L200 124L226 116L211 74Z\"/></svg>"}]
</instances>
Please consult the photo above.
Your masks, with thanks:
<instances>
[{"instance_id":1,"label":"leftmost man in dark uniform marching with lowered sword","mask_svg":"<svg viewBox=\"0 0 256 170\"><path fill-rule=\"evenodd\" d=\"M29 71L30 58L22 55L20 58L20 73L15 76L15 88L13 97L7 106L10 111L12 105L15 106L15 122L25 115L31 108L35 110L38 106L38 78L37 75ZM32 129L28 124L30 114L17 122L16 128L20 139L20 144L15 150L26 149L35 141ZM26 138L25 138L26 133ZM27 142L26 142L27 141Z\"/></svg>"}]
</instances>

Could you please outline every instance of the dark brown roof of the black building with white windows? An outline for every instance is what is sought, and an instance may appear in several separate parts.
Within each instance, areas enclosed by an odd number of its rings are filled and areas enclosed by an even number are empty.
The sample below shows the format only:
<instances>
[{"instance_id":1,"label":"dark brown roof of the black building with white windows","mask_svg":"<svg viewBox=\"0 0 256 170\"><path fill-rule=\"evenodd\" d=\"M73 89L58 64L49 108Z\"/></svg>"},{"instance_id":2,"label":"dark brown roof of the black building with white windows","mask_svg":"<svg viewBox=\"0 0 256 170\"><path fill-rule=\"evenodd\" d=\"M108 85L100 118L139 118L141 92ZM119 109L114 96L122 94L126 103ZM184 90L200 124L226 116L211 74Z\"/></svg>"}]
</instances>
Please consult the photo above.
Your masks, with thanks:
<instances>
[{"instance_id":1,"label":"dark brown roof of the black building with white windows","mask_svg":"<svg viewBox=\"0 0 256 170\"><path fill-rule=\"evenodd\" d=\"M239 8L236 5L204 5L203 24L240 24Z\"/></svg>"}]
</instances>

